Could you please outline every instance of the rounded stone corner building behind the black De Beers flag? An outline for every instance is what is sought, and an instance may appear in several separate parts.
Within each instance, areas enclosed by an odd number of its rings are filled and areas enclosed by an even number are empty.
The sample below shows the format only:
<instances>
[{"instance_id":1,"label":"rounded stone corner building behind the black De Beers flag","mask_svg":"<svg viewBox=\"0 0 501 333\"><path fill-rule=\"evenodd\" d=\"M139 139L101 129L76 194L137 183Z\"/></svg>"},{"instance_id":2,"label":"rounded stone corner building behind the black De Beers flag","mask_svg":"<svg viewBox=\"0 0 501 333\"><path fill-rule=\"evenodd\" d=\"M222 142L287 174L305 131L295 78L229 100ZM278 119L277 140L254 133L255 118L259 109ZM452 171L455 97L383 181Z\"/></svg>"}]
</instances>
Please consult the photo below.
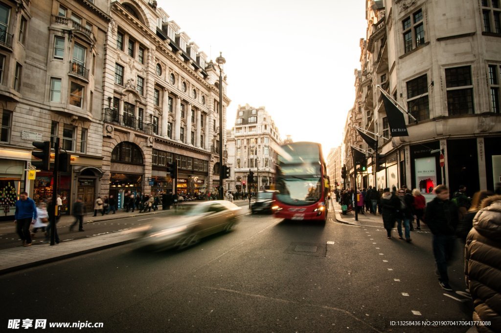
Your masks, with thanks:
<instances>
[{"instance_id":1,"label":"rounded stone corner building behind the black De Beers flag","mask_svg":"<svg viewBox=\"0 0 501 333\"><path fill-rule=\"evenodd\" d=\"M366 1L357 98L383 157L377 171L369 159L359 185L406 185L430 199L437 184L472 196L501 182L500 15L491 0ZM379 87L413 116L409 136L390 136Z\"/></svg>"}]
</instances>

